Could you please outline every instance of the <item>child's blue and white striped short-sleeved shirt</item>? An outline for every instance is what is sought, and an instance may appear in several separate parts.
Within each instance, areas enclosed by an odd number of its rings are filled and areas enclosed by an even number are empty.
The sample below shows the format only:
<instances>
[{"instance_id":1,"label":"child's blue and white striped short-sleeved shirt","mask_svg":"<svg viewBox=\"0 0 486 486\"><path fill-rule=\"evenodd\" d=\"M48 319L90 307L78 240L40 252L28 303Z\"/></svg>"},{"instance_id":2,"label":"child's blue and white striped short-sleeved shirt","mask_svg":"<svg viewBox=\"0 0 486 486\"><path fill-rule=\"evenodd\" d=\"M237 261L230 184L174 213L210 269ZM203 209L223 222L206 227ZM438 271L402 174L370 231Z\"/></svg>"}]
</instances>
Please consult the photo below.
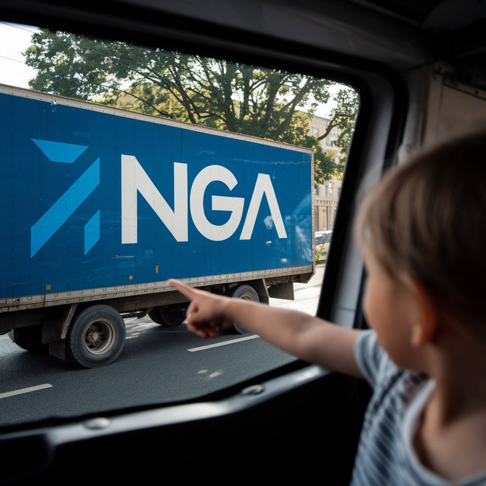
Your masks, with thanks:
<instances>
[{"instance_id":1,"label":"child's blue and white striped short-sleeved shirt","mask_svg":"<svg viewBox=\"0 0 486 486\"><path fill-rule=\"evenodd\" d=\"M373 396L364 417L352 486L486 486L486 470L451 483L426 469L417 458L413 437L434 390L433 379L399 370L373 330L365 330L358 337L355 359L373 388Z\"/></svg>"}]
</instances>

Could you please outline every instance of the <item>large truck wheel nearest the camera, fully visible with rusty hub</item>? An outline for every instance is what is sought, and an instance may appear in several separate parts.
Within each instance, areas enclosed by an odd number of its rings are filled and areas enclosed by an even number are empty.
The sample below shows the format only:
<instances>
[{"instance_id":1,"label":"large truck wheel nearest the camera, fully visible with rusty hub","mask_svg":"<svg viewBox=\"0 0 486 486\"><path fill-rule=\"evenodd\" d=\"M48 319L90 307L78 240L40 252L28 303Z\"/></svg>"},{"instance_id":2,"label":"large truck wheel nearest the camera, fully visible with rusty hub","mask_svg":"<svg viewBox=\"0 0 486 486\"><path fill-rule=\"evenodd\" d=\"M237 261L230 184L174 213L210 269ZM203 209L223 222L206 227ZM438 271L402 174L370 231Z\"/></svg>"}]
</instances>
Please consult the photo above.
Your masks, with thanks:
<instances>
[{"instance_id":1,"label":"large truck wheel nearest the camera, fully visible with rusty hub","mask_svg":"<svg viewBox=\"0 0 486 486\"><path fill-rule=\"evenodd\" d=\"M66 354L84 368L115 361L125 344L125 323L120 313L107 305L94 305L80 312L66 335Z\"/></svg>"}]
</instances>

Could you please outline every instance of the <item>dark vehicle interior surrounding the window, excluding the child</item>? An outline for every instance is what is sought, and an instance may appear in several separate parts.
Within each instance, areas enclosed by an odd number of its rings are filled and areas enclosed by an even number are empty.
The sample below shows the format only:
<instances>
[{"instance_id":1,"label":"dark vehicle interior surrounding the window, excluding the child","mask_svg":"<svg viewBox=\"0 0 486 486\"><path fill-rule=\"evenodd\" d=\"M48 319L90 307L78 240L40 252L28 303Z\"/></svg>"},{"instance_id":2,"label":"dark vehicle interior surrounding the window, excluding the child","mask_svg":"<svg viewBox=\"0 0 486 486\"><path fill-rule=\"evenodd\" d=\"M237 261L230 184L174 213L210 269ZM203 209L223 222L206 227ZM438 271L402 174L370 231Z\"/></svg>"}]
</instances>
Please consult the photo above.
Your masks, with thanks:
<instances>
[{"instance_id":1,"label":"dark vehicle interior surrounding the window, excluding the child","mask_svg":"<svg viewBox=\"0 0 486 486\"><path fill-rule=\"evenodd\" d=\"M0 0L0 17L356 89L360 108L317 308L347 327L367 327L352 238L363 194L388 168L486 115L480 0ZM362 380L297 360L197 399L11 426L0 430L0 482L145 484L169 475L347 485L370 394Z\"/></svg>"}]
</instances>

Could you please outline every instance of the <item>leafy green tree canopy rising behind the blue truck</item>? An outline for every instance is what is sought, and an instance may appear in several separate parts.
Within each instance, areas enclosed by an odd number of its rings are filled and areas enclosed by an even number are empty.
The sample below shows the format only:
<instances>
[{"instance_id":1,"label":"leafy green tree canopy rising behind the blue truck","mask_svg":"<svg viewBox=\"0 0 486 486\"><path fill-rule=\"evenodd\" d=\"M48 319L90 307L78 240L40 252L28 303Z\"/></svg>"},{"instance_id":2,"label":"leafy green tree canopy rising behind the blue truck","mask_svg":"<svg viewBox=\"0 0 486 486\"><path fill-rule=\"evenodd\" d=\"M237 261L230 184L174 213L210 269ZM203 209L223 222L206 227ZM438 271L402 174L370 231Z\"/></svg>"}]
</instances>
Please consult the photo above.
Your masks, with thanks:
<instances>
[{"instance_id":1,"label":"leafy green tree canopy rising behind the blue truck","mask_svg":"<svg viewBox=\"0 0 486 486\"><path fill-rule=\"evenodd\" d=\"M32 89L313 148L316 184L342 170L309 135L332 81L46 29L24 55Z\"/></svg>"}]
</instances>

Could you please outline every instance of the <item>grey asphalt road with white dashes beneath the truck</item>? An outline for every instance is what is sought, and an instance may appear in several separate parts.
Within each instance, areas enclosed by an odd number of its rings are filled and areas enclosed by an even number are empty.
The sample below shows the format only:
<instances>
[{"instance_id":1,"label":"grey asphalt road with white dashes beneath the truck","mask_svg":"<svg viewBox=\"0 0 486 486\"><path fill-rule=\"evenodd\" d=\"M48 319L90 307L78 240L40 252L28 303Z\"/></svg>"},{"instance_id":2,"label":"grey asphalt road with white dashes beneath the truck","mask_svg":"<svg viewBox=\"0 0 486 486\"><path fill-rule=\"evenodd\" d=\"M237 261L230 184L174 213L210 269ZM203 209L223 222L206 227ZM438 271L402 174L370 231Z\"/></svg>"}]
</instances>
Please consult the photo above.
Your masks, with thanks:
<instances>
[{"instance_id":1,"label":"grey asphalt road with white dashes beneath the truck","mask_svg":"<svg viewBox=\"0 0 486 486\"><path fill-rule=\"evenodd\" d=\"M307 284L295 284L294 301L270 299L270 305L315 314L323 272L318 265ZM184 325L164 328L149 317L125 323L119 358L92 369L25 351L0 336L0 426L191 399L295 359L255 334L205 340Z\"/></svg>"}]
</instances>

